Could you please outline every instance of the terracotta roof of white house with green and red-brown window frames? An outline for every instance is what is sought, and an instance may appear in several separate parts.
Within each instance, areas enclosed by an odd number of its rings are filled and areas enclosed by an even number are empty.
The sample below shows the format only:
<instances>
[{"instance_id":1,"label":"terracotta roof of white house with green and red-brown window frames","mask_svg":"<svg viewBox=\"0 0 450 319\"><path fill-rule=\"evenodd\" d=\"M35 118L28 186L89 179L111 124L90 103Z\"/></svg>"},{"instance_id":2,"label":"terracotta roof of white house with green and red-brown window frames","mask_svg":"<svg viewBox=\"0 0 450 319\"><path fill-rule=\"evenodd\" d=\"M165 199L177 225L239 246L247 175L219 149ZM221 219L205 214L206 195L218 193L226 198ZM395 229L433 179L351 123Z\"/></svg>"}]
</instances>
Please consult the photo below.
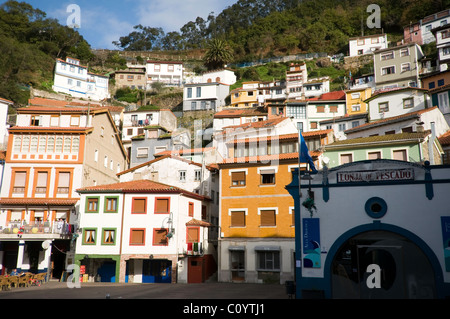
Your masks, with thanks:
<instances>
[{"instance_id":1,"label":"terracotta roof of white house with green and red-brown window frames","mask_svg":"<svg viewBox=\"0 0 450 319\"><path fill-rule=\"evenodd\" d=\"M197 199L205 199L207 197L199 194L186 191L182 188L171 186L163 183L158 183L146 179L134 180L130 182L113 183L105 185L90 186L77 189L78 193L178 193Z\"/></svg>"}]
</instances>

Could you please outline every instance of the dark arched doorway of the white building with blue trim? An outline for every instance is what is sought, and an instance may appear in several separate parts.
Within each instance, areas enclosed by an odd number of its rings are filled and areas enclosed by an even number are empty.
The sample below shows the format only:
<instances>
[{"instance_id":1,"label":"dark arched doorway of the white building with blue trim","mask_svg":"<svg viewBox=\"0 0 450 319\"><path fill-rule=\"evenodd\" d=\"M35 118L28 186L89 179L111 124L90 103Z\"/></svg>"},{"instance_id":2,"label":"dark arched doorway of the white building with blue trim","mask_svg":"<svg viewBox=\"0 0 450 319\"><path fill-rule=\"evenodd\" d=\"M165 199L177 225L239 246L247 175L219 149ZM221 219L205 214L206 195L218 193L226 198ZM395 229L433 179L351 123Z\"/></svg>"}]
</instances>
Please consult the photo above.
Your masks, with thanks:
<instances>
[{"instance_id":1,"label":"dark arched doorway of the white building with blue trim","mask_svg":"<svg viewBox=\"0 0 450 319\"><path fill-rule=\"evenodd\" d=\"M435 272L414 242L370 230L347 239L331 263L332 298L436 298Z\"/></svg>"}]
</instances>

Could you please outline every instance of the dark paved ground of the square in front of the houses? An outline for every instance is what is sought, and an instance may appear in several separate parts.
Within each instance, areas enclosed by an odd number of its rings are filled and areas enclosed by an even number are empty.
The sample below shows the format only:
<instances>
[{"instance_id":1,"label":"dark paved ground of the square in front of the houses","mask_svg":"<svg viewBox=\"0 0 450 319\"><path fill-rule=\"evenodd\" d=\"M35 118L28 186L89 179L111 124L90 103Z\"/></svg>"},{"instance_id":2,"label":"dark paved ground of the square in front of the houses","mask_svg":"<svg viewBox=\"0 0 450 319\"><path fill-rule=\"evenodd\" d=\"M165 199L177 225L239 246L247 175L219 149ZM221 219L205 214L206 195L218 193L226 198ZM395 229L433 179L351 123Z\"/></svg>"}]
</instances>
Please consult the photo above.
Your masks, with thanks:
<instances>
[{"instance_id":1,"label":"dark paved ground of the square in front of the houses","mask_svg":"<svg viewBox=\"0 0 450 319\"><path fill-rule=\"evenodd\" d=\"M0 291L0 299L288 299L279 284L120 284L81 283L69 288L50 281L41 286L17 287Z\"/></svg>"}]
</instances>

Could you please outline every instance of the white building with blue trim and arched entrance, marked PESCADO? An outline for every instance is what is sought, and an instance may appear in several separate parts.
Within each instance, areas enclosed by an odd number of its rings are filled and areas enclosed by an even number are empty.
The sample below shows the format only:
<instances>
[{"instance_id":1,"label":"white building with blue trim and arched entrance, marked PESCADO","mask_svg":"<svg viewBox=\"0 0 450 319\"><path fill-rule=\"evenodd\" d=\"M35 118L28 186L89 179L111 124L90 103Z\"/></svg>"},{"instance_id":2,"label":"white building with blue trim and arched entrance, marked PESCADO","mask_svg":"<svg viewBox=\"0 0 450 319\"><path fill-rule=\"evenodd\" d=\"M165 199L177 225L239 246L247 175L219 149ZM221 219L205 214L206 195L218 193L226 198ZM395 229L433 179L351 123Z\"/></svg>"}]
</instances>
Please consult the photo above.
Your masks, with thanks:
<instances>
[{"instance_id":1,"label":"white building with blue trim and arched entrance, marked PESCADO","mask_svg":"<svg viewBox=\"0 0 450 319\"><path fill-rule=\"evenodd\" d=\"M293 172L297 298L450 297L450 166L427 164Z\"/></svg>"}]
</instances>

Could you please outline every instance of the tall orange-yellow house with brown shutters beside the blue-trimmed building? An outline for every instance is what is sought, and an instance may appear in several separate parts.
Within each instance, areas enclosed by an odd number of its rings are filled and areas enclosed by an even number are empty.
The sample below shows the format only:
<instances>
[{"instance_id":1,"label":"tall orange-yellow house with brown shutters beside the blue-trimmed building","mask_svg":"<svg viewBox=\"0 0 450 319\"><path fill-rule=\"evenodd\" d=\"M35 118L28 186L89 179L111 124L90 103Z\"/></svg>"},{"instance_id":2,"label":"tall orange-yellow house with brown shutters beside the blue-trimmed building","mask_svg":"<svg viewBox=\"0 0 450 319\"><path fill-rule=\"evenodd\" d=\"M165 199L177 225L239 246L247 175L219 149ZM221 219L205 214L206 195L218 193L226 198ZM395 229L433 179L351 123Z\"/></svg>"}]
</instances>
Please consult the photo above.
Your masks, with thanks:
<instances>
[{"instance_id":1,"label":"tall orange-yellow house with brown shutters beside the blue-trimmed building","mask_svg":"<svg viewBox=\"0 0 450 319\"><path fill-rule=\"evenodd\" d=\"M298 136L249 138L228 147L239 143L258 144L271 150L264 154L272 155L227 158L219 164L218 280L280 284L293 280L294 200L285 186L299 166Z\"/></svg>"}]
</instances>

